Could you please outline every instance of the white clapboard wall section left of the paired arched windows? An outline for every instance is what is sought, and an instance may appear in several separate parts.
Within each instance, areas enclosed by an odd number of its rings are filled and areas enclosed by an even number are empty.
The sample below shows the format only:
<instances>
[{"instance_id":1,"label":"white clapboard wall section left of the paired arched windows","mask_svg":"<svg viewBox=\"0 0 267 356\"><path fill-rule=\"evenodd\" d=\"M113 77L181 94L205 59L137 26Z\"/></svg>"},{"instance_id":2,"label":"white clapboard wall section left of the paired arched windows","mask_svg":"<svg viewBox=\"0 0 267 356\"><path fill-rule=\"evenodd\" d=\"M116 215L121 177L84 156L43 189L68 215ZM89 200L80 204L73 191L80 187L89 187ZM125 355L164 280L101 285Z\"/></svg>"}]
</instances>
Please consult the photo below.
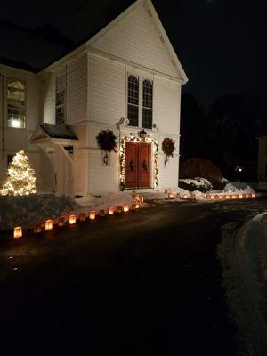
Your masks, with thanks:
<instances>
[{"instance_id":1,"label":"white clapboard wall section left of the paired arched windows","mask_svg":"<svg viewBox=\"0 0 267 356\"><path fill-rule=\"evenodd\" d=\"M89 119L115 125L125 117L125 65L90 54Z\"/></svg>"}]
</instances>

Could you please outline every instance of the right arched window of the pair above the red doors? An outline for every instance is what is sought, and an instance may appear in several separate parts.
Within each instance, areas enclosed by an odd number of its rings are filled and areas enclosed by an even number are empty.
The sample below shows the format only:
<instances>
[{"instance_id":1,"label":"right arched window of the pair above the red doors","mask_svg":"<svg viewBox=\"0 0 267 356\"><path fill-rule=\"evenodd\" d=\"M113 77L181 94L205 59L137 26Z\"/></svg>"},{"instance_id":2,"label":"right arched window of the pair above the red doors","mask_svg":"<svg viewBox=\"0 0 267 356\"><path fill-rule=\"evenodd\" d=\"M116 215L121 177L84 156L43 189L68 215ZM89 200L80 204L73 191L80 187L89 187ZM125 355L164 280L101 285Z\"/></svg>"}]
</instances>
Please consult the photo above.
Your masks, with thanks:
<instances>
[{"instance_id":1,"label":"right arched window of the pair above the red doors","mask_svg":"<svg viewBox=\"0 0 267 356\"><path fill-rule=\"evenodd\" d=\"M142 82L142 128L152 128L153 120L153 83L145 79Z\"/></svg>"}]
</instances>

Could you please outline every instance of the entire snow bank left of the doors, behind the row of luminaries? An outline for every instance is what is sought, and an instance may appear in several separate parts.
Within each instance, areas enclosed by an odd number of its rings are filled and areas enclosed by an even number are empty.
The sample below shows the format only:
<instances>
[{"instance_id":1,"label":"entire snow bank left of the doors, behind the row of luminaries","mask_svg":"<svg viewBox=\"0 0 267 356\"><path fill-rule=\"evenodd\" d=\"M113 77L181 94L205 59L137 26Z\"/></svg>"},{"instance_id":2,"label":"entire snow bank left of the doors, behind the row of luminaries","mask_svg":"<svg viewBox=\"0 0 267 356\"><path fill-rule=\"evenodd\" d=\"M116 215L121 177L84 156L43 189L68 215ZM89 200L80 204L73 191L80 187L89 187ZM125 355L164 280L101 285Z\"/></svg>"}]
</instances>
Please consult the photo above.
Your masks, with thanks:
<instances>
[{"instance_id":1,"label":"entire snow bank left of the doors, behind the row of luminaries","mask_svg":"<svg viewBox=\"0 0 267 356\"><path fill-rule=\"evenodd\" d=\"M95 210L129 205L132 191L106 194L101 197L88 195L83 198L70 198L54 194L33 194L29 196L0 196L0 230L22 226L24 229L44 224L45 220L56 221L61 215L88 213Z\"/></svg>"}]
</instances>

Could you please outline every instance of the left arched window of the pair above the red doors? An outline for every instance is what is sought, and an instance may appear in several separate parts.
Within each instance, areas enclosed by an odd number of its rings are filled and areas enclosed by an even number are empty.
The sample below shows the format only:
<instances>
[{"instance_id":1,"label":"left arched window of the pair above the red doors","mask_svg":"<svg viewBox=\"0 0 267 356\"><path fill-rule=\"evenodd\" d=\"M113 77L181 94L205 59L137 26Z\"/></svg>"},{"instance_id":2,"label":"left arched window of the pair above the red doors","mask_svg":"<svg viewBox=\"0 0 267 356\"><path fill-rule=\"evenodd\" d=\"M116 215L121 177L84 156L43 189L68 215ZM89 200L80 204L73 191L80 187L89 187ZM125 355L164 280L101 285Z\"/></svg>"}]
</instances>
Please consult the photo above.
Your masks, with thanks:
<instances>
[{"instance_id":1,"label":"left arched window of the pair above the red doors","mask_svg":"<svg viewBox=\"0 0 267 356\"><path fill-rule=\"evenodd\" d=\"M130 126L138 126L139 117L139 78L128 76L128 119Z\"/></svg>"}]
</instances>

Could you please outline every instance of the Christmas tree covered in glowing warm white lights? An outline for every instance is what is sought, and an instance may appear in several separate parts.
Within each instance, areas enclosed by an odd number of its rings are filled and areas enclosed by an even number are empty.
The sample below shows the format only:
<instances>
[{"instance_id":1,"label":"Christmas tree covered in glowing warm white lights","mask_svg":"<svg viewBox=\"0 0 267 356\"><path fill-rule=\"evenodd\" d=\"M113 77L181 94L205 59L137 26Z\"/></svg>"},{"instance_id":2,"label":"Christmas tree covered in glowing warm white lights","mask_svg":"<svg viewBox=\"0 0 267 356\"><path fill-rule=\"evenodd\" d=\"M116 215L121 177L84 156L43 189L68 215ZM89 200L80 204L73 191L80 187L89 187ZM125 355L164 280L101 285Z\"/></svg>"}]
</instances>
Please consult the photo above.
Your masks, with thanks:
<instances>
[{"instance_id":1,"label":"Christmas tree covered in glowing warm white lights","mask_svg":"<svg viewBox=\"0 0 267 356\"><path fill-rule=\"evenodd\" d=\"M2 195L28 195L37 192L36 174L24 150L15 154L7 172L7 178L1 190Z\"/></svg>"}]
</instances>

